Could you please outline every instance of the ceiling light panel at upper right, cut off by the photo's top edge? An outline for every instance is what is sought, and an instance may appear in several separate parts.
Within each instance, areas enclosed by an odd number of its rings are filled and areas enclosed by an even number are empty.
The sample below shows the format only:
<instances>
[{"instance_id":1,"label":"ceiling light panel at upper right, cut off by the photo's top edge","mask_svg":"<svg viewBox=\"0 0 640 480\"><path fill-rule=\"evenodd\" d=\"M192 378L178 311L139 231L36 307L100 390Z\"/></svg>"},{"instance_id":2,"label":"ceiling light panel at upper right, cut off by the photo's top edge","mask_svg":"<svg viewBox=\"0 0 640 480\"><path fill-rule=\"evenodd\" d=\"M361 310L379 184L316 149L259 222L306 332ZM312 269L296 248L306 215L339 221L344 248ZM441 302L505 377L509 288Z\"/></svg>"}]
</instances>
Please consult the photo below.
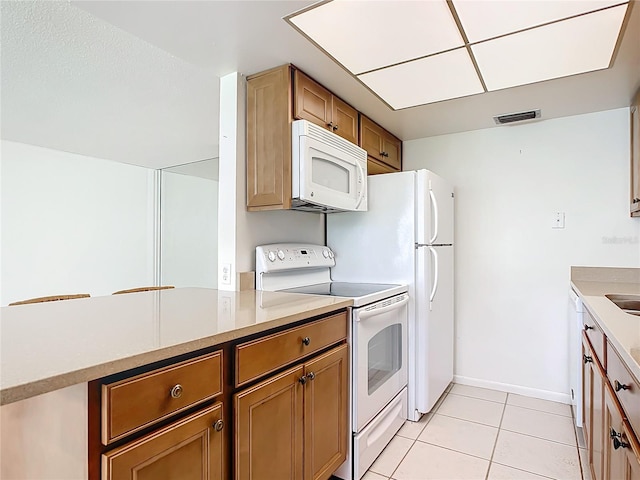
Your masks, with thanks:
<instances>
[{"instance_id":1,"label":"ceiling light panel at upper right, cut off by the photo's top edge","mask_svg":"<svg viewBox=\"0 0 640 480\"><path fill-rule=\"evenodd\" d=\"M453 0L453 5L467 39L470 43L475 43L624 2L625 0Z\"/></svg>"}]
</instances>

